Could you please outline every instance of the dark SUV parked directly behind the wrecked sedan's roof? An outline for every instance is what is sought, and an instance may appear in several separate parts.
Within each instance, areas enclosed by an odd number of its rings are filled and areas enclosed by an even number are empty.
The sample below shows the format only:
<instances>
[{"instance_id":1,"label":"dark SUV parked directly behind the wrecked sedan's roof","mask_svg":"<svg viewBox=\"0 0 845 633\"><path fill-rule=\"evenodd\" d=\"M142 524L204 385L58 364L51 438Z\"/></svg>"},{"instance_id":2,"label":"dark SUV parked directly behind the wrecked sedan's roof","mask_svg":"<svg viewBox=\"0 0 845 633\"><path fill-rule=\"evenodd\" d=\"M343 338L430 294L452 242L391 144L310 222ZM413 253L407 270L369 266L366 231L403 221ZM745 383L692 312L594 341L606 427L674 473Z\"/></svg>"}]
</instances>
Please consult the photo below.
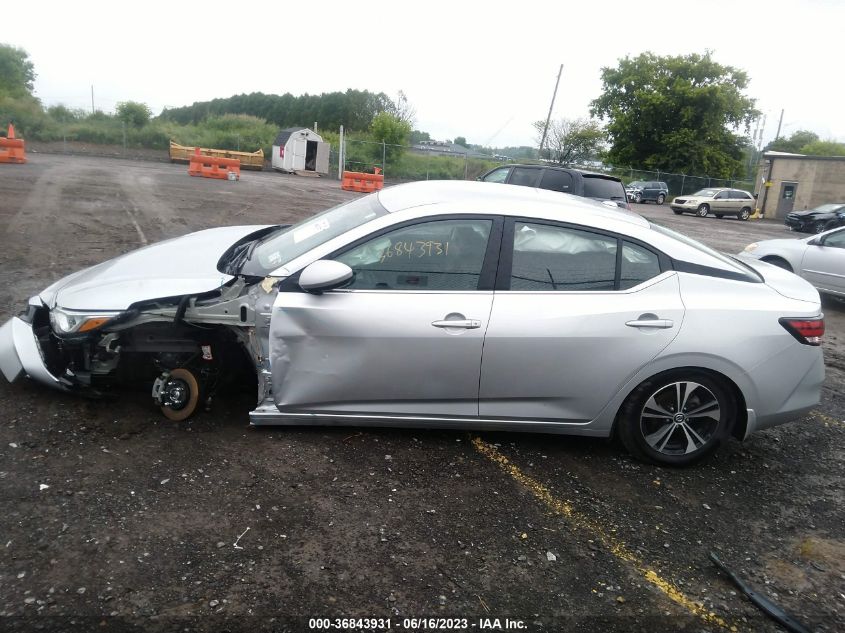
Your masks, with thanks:
<instances>
[{"instance_id":1,"label":"dark SUV parked directly behind the wrecked sedan's roof","mask_svg":"<svg viewBox=\"0 0 845 633\"><path fill-rule=\"evenodd\" d=\"M506 165L491 169L479 180L562 191L593 200L610 200L623 209L630 208L625 186L619 178L580 169L546 165Z\"/></svg>"}]
</instances>

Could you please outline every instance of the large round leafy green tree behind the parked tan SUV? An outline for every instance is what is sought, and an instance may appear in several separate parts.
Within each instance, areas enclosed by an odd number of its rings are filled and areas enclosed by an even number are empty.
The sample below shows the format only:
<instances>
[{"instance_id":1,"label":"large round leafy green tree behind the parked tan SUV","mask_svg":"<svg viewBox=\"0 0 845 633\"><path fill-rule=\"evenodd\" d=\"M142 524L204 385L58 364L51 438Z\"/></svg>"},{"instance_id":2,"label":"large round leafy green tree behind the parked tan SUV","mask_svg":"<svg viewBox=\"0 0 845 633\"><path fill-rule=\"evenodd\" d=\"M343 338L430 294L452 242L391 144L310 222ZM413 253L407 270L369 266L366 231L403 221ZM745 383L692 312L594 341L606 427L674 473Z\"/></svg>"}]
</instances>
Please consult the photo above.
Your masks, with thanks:
<instances>
[{"instance_id":1,"label":"large round leafy green tree behind the parked tan SUV","mask_svg":"<svg viewBox=\"0 0 845 633\"><path fill-rule=\"evenodd\" d=\"M743 94L748 75L704 55L646 52L602 68L591 113L607 119L615 165L731 178L758 112ZM743 130L745 135L738 134Z\"/></svg>"}]
</instances>

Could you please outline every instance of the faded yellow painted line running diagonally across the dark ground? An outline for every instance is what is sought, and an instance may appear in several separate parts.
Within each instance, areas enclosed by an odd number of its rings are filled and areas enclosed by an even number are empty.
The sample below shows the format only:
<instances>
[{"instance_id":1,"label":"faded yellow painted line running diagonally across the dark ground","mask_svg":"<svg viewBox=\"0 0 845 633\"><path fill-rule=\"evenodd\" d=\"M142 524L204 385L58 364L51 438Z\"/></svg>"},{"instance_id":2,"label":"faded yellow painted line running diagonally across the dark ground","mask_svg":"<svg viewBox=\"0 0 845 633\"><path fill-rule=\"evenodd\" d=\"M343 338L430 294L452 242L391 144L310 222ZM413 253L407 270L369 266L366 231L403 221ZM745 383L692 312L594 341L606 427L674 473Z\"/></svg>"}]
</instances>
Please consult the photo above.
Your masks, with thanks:
<instances>
[{"instance_id":1,"label":"faded yellow painted line running diagonally across the dark ground","mask_svg":"<svg viewBox=\"0 0 845 633\"><path fill-rule=\"evenodd\" d=\"M634 569L647 580L649 583L657 587L664 595L666 595L672 602L680 605L691 614L701 618L707 624L715 624L729 631L737 631L737 627L729 624L725 619L719 617L712 611L709 611L700 602L696 602L671 581L663 578L660 573L645 563L637 554L635 554L627 545L610 534L604 526L597 523L595 520L581 514L566 501L561 501L549 492L549 489L537 481L536 479L523 473L518 467L510 462L510 460L502 455L495 446L488 444L480 437L472 438L472 445L479 453L484 455L487 459L495 463L506 474L525 486L534 497L543 503L555 514L565 517L576 528L590 532L592 537L600 541L605 549L607 549L616 558L626 563L633 565Z\"/></svg>"}]
</instances>

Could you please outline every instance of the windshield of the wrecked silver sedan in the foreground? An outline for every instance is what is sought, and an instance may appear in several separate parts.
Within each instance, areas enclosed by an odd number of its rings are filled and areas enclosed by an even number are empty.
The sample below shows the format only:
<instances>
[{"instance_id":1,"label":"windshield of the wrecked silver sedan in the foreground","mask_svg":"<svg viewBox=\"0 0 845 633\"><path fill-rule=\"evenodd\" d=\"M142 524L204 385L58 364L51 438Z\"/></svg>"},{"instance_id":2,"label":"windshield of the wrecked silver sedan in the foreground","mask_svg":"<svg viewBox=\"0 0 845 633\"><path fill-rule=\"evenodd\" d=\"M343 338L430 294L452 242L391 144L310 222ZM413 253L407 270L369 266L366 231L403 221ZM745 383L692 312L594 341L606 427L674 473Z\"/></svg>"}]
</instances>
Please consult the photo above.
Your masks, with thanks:
<instances>
[{"instance_id":1,"label":"windshield of the wrecked silver sedan in the foreground","mask_svg":"<svg viewBox=\"0 0 845 633\"><path fill-rule=\"evenodd\" d=\"M312 248L387 214L378 194L345 202L261 240L241 272L266 277Z\"/></svg>"}]
</instances>

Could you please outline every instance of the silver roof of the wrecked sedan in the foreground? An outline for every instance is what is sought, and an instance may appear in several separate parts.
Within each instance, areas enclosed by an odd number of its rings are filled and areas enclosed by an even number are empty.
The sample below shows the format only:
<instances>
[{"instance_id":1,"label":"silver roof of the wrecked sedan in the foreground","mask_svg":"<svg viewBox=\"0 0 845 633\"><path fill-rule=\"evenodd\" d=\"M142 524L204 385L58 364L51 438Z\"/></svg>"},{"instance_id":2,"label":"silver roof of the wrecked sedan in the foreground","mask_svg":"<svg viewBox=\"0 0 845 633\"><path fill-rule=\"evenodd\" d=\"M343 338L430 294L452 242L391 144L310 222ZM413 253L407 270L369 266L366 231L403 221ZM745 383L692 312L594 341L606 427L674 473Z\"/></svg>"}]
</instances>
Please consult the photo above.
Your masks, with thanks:
<instances>
[{"instance_id":1,"label":"silver roof of the wrecked sedan in the foreground","mask_svg":"<svg viewBox=\"0 0 845 633\"><path fill-rule=\"evenodd\" d=\"M603 225L622 222L640 227L649 226L645 218L632 211L610 208L581 196L522 185L428 180L387 187L379 192L378 197L390 213L428 205L463 205L471 201L479 213L546 217L578 224L585 224L585 220L593 224L589 220L595 219Z\"/></svg>"}]
</instances>

